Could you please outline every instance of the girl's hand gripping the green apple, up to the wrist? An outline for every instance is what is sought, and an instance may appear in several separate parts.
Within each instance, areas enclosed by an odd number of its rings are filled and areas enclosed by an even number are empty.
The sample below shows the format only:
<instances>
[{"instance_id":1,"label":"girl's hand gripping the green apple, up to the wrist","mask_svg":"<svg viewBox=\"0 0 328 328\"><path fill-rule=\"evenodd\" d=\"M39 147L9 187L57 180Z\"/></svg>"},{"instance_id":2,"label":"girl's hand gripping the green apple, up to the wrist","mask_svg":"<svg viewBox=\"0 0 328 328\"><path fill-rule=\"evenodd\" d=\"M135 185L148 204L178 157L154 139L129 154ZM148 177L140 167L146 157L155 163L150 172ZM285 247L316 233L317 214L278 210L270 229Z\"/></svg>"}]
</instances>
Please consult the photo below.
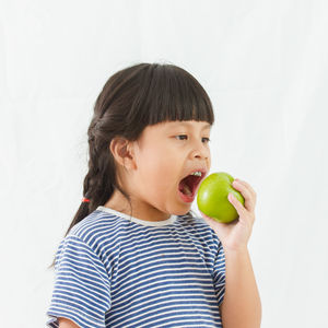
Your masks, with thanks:
<instances>
[{"instance_id":1,"label":"girl's hand gripping the green apple, up to the wrist","mask_svg":"<svg viewBox=\"0 0 328 328\"><path fill-rule=\"evenodd\" d=\"M251 234L255 221L256 192L249 184L241 179L235 179L232 186L238 190L245 199L244 207L236 198L231 198L233 195L229 195L229 201L234 206L239 215L237 220L231 223L221 223L210 216L207 216L202 212L200 213L204 221L207 221L207 223L216 233L223 248L239 250L247 247L247 243Z\"/></svg>"}]
</instances>

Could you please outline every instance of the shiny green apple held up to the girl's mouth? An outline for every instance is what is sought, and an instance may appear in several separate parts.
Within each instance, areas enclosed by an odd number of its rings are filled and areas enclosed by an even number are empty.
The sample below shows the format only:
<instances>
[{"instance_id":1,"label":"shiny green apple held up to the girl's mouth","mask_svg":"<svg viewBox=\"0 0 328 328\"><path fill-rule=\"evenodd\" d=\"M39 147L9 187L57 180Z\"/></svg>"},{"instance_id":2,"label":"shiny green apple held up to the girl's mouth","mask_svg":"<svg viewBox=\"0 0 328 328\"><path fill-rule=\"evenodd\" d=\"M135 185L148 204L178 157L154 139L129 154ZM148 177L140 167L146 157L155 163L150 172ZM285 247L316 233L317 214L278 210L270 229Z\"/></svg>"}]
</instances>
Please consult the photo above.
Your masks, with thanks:
<instances>
[{"instance_id":1,"label":"shiny green apple held up to the girl's mouth","mask_svg":"<svg viewBox=\"0 0 328 328\"><path fill-rule=\"evenodd\" d=\"M234 178L225 172L212 173L200 184L197 192L198 209L206 215L222 223L238 219L238 213L229 201L227 195L233 194L244 206L242 194L232 186Z\"/></svg>"}]
</instances>

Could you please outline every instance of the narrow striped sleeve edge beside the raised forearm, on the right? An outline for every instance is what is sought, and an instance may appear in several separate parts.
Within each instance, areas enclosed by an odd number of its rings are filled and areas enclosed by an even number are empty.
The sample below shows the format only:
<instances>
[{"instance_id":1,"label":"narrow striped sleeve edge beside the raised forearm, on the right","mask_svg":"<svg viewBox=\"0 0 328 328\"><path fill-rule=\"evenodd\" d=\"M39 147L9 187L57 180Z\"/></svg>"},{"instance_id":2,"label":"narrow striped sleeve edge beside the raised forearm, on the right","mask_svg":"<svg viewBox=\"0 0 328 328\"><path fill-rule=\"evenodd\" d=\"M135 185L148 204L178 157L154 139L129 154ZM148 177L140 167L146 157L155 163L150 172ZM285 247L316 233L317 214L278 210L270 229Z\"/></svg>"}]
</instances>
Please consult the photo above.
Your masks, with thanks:
<instances>
[{"instance_id":1,"label":"narrow striped sleeve edge beside the raised forearm, on the right","mask_svg":"<svg viewBox=\"0 0 328 328\"><path fill-rule=\"evenodd\" d=\"M218 238L219 241L219 238ZM219 248L213 267L213 283L216 293L219 306L223 302L225 292L225 257L222 243L219 241Z\"/></svg>"}]
</instances>

